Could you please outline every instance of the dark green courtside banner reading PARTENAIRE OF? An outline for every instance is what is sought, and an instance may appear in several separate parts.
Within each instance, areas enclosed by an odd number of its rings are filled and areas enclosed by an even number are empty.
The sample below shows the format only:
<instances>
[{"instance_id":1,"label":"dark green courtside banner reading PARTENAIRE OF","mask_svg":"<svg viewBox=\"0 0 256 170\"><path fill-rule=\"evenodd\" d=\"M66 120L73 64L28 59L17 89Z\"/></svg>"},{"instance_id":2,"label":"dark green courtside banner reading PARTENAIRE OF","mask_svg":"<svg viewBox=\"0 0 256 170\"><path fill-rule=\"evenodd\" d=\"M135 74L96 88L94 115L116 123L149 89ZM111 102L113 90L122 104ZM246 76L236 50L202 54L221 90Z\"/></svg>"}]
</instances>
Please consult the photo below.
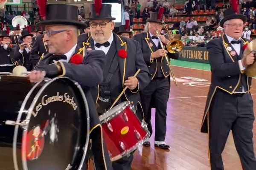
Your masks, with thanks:
<instances>
[{"instance_id":1,"label":"dark green courtside banner reading PARTENAIRE OF","mask_svg":"<svg viewBox=\"0 0 256 170\"><path fill-rule=\"evenodd\" d=\"M209 63L206 47L184 46L178 60Z\"/></svg>"}]
</instances>

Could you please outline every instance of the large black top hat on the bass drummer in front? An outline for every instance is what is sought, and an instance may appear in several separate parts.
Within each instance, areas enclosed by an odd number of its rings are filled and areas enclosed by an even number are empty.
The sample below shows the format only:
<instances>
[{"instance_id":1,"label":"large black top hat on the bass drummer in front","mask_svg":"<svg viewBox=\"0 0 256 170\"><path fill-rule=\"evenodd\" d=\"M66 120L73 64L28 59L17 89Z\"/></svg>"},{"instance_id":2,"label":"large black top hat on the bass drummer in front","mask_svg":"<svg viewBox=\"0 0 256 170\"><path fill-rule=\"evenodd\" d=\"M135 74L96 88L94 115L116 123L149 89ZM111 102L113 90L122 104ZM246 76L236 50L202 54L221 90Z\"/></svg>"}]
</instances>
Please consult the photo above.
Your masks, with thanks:
<instances>
[{"instance_id":1,"label":"large black top hat on the bass drummer in front","mask_svg":"<svg viewBox=\"0 0 256 170\"><path fill-rule=\"evenodd\" d=\"M64 12L60 12L64 11ZM77 28L84 28L85 24L78 21L78 7L67 4L47 4L46 18L37 23L37 26L46 25L73 25Z\"/></svg>"}]
</instances>

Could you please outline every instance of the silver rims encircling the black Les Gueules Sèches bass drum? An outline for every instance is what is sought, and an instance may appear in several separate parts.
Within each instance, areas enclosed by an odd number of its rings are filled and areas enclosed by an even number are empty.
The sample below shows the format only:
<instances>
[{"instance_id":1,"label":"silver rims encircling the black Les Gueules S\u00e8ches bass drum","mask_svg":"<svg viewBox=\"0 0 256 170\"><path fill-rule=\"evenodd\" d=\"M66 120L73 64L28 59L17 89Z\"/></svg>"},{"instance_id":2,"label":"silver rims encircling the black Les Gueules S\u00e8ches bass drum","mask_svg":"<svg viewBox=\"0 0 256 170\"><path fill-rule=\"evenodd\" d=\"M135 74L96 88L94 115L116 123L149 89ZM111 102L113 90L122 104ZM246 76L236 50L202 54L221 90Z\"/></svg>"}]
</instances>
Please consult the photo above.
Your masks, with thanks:
<instances>
[{"instance_id":1,"label":"silver rims encircling the black Les Gueules S\u00e8ches bass drum","mask_svg":"<svg viewBox=\"0 0 256 170\"><path fill-rule=\"evenodd\" d=\"M47 81L47 82L41 87L41 89L38 91L38 93L35 95L35 97L34 97L32 103L31 103L31 105L29 106L29 109L26 111L26 112L27 112L27 116L26 116L25 121L27 121L27 122L26 122L26 126L22 127L22 128L23 128L22 144L24 144L23 140L26 140L26 135L24 135L24 134L27 133L27 129L28 129L28 127L29 127L29 122L30 122L30 117L31 117L31 115L32 115L32 110L33 110L33 108L35 107L35 104L36 104L36 102L37 102L39 96L42 94L42 92L45 90L45 88L47 88L48 85L50 85L52 82L54 82L54 81L57 80L57 79L69 79L70 81L72 81L72 82L77 86L77 88L79 89L79 91L81 92L81 96L82 96L83 101L84 101L85 109L89 110L89 109L88 109L87 100L86 100L85 95L84 95L84 92L83 92L83 90L81 89L81 85L79 85L78 82L73 81L73 80L70 79L69 77L55 77L55 78L53 78L53 79L49 79L49 81ZM38 84L40 84L41 82L43 82L43 81L45 81L45 80L48 80L48 79L44 79L44 80L42 80L42 81L40 81L40 82L37 82L29 92L32 93L32 92L35 90L35 87L37 87ZM19 111L18 117L19 117L19 116L21 117L22 113L24 112L24 107L25 107L25 105L26 105L27 100L28 100L29 97L31 96L31 93L28 93L28 94L26 95L26 97L25 97L26 101L25 101L25 99L24 99L24 101L23 101L23 103L22 103L22 105L24 104L24 106L23 106L23 109L22 109L22 110L21 110L22 107L20 108L20 111L22 111L22 112ZM86 103L85 103L85 102L86 102ZM84 145L84 147L85 147L85 148L84 148L84 153L83 153L83 156L82 156L81 163L80 163L80 165L79 165L79 168L80 168L80 169L81 169L81 165L82 165L83 162L84 162L84 159L85 159L85 156L86 156L86 152L87 152L87 148L88 148L88 145L89 145L89 128L90 128L90 122L89 122L90 120L88 119L88 118L90 118L90 117L89 117L89 111L87 111L86 114L87 114L87 135L86 135L86 142L85 142L85 145ZM20 120L19 120L19 121L20 121ZM16 121L16 122L17 122L17 121ZM16 126L17 126L17 130L18 130L19 125L15 125L15 129L16 129ZM15 143L15 157L16 157L16 166L17 166L17 155L16 155L16 154L17 154L17 150L16 150L17 133L16 133L16 140L14 140L14 141L15 141L15 142L13 142L13 143ZM25 143L25 144L26 144L26 143ZM24 148L24 147L21 147L21 148ZM22 153L23 153L23 150L22 150ZM14 155L14 154L13 154L13 155ZM26 156L24 156L24 154L21 155L21 162L22 162L23 170L28 170L28 167L27 167L27 159L26 159ZM15 169L15 170L18 170L18 166L17 166L17 169Z\"/></svg>"}]
</instances>

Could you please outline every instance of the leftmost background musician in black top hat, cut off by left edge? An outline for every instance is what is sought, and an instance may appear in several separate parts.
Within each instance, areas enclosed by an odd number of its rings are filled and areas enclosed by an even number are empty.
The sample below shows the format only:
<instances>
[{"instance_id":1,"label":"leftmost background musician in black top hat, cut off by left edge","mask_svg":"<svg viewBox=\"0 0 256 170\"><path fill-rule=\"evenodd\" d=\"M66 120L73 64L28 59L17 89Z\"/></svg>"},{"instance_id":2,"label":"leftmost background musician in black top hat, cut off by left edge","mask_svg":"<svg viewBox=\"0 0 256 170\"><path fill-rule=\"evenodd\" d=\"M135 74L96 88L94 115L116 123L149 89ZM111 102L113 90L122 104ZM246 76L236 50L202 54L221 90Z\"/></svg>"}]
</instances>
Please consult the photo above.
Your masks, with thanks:
<instances>
[{"instance_id":1,"label":"leftmost background musician in black top hat, cut off by left edge","mask_svg":"<svg viewBox=\"0 0 256 170\"><path fill-rule=\"evenodd\" d=\"M7 32L8 33L8 32ZM3 38L0 46L0 72L12 72L14 65L12 63L12 56L14 54L13 47L11 43L11 36L9 36L5 31L1 31L0 38Z\"/></svg>"}]
</instances>

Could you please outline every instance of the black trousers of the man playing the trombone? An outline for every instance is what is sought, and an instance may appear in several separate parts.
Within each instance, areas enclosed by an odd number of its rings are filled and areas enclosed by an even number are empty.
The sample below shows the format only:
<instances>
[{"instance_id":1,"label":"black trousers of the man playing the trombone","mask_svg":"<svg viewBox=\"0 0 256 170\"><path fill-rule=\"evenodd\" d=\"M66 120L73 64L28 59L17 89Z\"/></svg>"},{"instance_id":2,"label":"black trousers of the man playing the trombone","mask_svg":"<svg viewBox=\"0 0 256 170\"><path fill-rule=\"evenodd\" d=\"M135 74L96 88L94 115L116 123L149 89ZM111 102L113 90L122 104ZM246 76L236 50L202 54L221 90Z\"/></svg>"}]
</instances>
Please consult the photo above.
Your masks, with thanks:
<instances>
[{"instance_id":1,"label":"black trousers of the man playing the trombone","mask_svg":"<svg viewBox=\"0 0 256 170\"><path fill-rule=\"evenodd\" d=\"M152 134L151 125L151 103L156 108L155 115L155 141L164 141L166 136L166 109L169 98L170 82L169 77L154 78L148 86L140 93L142 108L145 114L145 122Z\"/></svg>"}]
</instances>

